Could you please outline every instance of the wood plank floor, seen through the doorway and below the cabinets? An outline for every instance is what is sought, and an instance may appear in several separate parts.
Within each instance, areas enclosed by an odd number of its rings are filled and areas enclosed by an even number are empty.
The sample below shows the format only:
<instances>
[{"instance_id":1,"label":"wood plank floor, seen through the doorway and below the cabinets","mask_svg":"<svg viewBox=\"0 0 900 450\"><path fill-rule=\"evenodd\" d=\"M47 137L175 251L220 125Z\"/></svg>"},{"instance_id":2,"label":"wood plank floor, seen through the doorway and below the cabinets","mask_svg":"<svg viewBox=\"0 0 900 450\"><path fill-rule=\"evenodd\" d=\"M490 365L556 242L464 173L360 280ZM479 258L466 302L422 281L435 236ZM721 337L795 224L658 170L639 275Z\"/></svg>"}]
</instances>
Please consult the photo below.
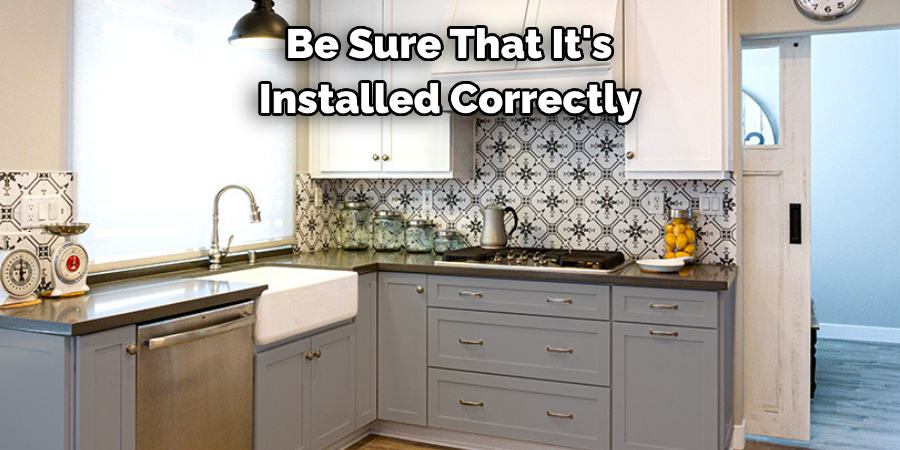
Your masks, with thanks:
<instances>
[{"instance_id":1,"label":"wood plank floor, seen through the doorway and below the cabinets","mask_svg":"<svg viewBox=\"0 0 900 450\"><path fill-rule=\"evenodd\" d=\"M812 441L748 441L746 450L900 450L900 345L820 340ZM369 436L349 450L452 450Z\"/></svg>"}]
</instances>

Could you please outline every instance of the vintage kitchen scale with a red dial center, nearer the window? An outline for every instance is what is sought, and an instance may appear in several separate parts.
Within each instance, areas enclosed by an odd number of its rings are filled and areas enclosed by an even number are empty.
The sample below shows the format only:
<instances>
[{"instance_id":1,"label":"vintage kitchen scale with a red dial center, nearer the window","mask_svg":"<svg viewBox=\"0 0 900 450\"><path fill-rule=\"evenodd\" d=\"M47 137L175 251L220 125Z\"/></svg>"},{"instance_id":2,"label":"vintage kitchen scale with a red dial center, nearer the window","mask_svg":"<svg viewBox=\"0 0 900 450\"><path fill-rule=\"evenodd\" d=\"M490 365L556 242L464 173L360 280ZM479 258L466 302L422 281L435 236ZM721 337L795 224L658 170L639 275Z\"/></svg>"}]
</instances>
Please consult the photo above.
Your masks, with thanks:
<instances>
[{"instance_id":1,"label":"vintage kitchen scale with a red dial center, nearer the window","mask_svg":"<svg viewBox=\"0 0 900 450\"><path fill-rule=\"evenodd\" d=\"M50 290L41 292L41 297L74 297L90 290L87 286L87 250L74 238L87 231L90 225L77 222L41 225L45 233L66 239L50 258Z\"/></svg>"}]
</instances>

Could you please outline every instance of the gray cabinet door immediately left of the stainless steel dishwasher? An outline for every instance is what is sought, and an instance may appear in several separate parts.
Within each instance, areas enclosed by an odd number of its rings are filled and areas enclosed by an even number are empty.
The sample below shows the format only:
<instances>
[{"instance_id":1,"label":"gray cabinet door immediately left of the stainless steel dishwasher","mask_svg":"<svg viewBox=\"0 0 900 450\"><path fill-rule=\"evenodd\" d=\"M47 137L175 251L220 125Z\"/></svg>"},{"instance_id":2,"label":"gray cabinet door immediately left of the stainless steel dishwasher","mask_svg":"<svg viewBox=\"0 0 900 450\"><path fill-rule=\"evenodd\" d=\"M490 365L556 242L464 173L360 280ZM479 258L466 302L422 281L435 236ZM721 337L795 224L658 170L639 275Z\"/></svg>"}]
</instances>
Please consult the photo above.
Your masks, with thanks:
<instances>
[{"instance_id":1,"label":"gray cabinet door immediately left of the stainless steel dishwasher","mask_svg":"<svg viewBox=\"0 0 900 450\"><path fill-rule=\"evenodd\" d=\"M77 338L76 449L134 450L136 339L133 325Z\"/></svg>"}]
</instances>

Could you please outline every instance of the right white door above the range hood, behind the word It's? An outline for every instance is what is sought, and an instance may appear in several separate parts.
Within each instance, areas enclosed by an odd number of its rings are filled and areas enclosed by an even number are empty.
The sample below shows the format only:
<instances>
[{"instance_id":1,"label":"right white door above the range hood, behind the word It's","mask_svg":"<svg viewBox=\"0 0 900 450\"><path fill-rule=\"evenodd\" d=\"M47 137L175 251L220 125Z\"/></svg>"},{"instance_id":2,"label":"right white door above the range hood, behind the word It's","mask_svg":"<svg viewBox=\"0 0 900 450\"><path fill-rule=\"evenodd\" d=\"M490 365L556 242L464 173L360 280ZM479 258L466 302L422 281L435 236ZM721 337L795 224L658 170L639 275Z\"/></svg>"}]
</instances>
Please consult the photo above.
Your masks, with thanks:
<instances>
[{"instance_id":1,"label":"right white door above the range hood, behind the word It's","mask_svg":"<svg viewBox=\"0 0 900 450\"><path fill-rule=\"evenodd\" d=\"M553 27L581 27L590 25L594 33L614 34L616 30L617 4L619 0L532 0L528 4L526 27L535 27L544 37L541 48L544 50L543 61L519 61L517 68L552 69L565 67L588 67L607 64L591 58L591 43L585 41L580 46L584 59L581 61L553 61L550 59L550 36ZM564 5L560 7L560 5ZM577 11L577 14L573 14ZM621 48L621 42L614 42Z\"/></svg>"}]
</instances>

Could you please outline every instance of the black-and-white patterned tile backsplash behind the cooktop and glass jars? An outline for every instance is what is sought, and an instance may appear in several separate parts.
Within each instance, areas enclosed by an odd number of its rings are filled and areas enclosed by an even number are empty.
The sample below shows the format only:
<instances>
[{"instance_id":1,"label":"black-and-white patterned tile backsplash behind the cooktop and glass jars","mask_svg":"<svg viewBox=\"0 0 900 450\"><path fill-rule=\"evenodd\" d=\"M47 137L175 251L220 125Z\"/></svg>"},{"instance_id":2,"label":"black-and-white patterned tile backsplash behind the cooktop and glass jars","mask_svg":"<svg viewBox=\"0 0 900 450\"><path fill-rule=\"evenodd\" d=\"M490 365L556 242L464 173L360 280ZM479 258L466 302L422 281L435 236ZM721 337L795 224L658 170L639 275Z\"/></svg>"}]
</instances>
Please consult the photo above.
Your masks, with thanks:
<instances>
[{"instance_id":1,"label":"black-and-white patterned tile backsplash behind the cooktop and glass jars","mask_svg":"<svg viewBox=\"0 0 900 450\"><path fill-rule=\"evenodd\" d=\"M663 214L642 202L663 193L673 208L696 209L699 195L721 193L725 214L700 216L697 255L709 264L733 264L736 216L733 180L640 181L625 179L624 129L604 117L516 116L476 120L475 176L471 180L296 179L295 250L310 252L339 243L337 204L365 201L373 210L394 209L407 218L428 217L463 231L478 245L481 208L512 206L519 229L511 246L621 250L657 257L665 250ZM323 205L314 204L315 188ZM434 208L422 191L434 192Z\"/></svg>"}]
</instances>

